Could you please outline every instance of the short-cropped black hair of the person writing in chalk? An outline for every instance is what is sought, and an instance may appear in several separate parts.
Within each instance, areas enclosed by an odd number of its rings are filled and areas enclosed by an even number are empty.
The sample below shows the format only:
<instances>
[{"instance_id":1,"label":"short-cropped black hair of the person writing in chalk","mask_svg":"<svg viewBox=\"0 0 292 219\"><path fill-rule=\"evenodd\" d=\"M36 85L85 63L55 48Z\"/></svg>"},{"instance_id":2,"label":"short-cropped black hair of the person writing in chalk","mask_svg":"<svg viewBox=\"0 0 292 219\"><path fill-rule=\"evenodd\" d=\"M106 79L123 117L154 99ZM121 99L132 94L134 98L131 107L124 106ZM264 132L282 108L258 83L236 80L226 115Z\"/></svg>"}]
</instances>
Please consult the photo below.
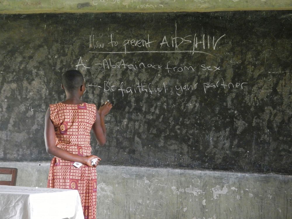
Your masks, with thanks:
<instances>
[{"instance_id":1,"label":"short-cropped black hair of the person writing in chalk","mask_svg":"<svg viewBox=\"0 0 292 219\"><path fill-rule=\"evenodd\" d=\"M74 91L83 85L84 77L78 70L68 70L62 74L62 84L66 91Z\"/></svg>"}]
</instances>

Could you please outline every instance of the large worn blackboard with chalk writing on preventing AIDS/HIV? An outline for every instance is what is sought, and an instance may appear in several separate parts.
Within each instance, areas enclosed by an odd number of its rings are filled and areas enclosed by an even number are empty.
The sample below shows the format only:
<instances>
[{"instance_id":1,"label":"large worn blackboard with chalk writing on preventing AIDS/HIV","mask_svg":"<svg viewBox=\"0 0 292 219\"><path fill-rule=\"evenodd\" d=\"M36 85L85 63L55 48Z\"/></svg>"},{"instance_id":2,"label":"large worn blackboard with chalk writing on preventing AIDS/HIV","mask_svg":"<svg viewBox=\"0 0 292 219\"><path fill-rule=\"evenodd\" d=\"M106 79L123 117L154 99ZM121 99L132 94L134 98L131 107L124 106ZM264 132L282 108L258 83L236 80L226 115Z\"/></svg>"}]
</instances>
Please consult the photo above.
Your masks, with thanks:
<instances>
[{"instance_id":1,"label":"large worn blackboard with chalk writing on preventing AIDS/HIV","mask_svg":"<svg viewBox=\"0 0 292 219\"><path fill-rule=\"evenodd\" d=\"M290 11L1 15L0 159L48 161L44 114L79 69L114 103L104 164L292 173Z\"/></svg>"}]
</instances>

